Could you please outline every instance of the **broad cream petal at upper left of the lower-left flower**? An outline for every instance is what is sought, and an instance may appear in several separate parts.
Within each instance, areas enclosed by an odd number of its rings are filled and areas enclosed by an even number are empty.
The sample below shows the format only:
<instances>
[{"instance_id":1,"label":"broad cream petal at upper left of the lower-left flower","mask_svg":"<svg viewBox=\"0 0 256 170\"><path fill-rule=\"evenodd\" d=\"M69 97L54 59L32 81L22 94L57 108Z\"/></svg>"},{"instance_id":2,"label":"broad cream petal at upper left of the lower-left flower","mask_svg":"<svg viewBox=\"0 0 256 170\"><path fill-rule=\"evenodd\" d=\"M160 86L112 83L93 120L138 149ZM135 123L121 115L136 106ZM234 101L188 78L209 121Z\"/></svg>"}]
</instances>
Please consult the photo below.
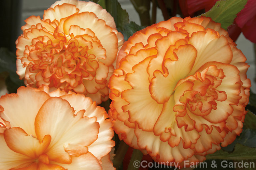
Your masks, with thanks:
<instances>
[{"instance_id":1,"label":"broad cream petal at upper left of the lower-left flower","mask_svg":"<svg viewBox=\"0 0 256 170\"><path fill-rule=\"evenodd\" d=\"M9 121L12 127L20 127L27 134L35 136L35 117L42 104L49 97L43 91L30 87L20 87L17 94L7 94L0 98L0 105L4 109L0 112L0 116L5 121ZM14 104L15 107L13 107Z\"/></svg>"}]
</instances>

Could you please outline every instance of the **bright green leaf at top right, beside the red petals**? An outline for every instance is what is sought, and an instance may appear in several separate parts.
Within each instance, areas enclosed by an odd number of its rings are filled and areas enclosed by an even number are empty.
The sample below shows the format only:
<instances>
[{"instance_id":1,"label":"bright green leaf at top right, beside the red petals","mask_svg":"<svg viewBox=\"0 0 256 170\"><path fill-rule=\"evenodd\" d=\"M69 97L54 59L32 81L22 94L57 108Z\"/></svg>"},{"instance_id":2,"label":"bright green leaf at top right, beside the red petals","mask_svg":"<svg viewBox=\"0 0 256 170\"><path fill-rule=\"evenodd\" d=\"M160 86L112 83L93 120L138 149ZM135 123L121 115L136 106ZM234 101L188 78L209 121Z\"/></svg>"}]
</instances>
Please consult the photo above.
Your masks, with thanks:
<instances>
[{"instance_id":1,"label":"bright green leaf at top right, beside the red petals","mask_svg":"<svg viewBox=\"0 0 256 170\"><path fill-rule=\"evenodd\" d=\"M247 0L225 0L217 1L212 9L202 16L211 17L215 22L221 23L221 27L227 30L234 18L237 17L239 13L246 4Z\"/></svg>"}]
</instances>

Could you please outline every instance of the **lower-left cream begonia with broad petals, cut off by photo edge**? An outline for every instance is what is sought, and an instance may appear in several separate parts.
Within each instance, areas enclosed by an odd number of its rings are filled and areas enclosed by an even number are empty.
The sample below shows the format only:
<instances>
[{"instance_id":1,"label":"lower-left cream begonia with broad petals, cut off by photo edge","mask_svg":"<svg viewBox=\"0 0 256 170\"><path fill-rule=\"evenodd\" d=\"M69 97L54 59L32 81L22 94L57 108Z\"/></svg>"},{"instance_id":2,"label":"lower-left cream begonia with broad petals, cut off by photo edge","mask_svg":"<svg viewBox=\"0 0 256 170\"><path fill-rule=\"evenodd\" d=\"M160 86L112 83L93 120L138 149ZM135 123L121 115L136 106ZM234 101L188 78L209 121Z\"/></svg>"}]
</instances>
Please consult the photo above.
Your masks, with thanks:
<instances>
[{"instance_id":1,"label":"lower-left cream begonia with broad petals, cut off by photo edge","mask_svg":"<svg viewBox=\"0 0 256 170\"><path fill-rule=\"evenodd\" d=\"M104 108L83 94L40 89L0 98L0 170L115 169Z\"/></svg>"}]
</instances>

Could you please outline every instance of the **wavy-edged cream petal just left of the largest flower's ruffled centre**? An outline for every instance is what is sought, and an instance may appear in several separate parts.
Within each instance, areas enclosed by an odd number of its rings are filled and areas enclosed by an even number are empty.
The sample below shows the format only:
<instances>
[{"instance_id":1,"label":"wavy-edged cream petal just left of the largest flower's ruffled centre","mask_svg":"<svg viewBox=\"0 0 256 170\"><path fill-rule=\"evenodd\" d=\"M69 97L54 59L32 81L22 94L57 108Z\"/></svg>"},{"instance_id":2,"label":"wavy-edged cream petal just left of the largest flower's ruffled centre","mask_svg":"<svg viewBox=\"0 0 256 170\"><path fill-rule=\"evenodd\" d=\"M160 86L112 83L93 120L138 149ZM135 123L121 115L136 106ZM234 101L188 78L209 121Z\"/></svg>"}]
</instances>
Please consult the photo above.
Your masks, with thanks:
<instances>
[{"instance_id":1,"label":"wavy-edged cream petal just left of the largest flower's ruffled centre","mask_svg":"<svg viewBox=\"0 0 256 170\"><path fill-rule=\"evenodd\" d=\"M149 86L151 96L157 103L162 104L169 100L177 82L187 77L197 57L197 51L192 45L179 46L177 50L173 50L173 53L178 60L166 59L163 61L167 73L163 75L156 70Z\"/></svg>"}]
</instances>

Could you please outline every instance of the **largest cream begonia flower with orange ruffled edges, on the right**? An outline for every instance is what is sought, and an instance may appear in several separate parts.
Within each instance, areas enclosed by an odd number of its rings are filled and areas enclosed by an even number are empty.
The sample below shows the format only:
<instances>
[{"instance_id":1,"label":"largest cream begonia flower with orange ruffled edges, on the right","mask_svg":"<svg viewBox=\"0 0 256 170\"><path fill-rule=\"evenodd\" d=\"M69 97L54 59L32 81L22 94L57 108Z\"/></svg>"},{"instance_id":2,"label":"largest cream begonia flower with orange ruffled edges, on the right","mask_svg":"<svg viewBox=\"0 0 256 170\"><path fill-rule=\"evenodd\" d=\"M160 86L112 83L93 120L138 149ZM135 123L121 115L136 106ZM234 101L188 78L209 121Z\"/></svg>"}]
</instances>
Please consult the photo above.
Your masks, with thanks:
<instances>
[{"instance_id":1,"label":"largest cream begonia flower with orange ruffled edges, on the right","mask_svg":"<svg viewBox=\"0 0 256 170\"><path fill-rule=\"evenodd\" d=\"M173 17L136 32L110 78L115 132L157 162L205 160L242 132L245 61L211 18Z\"/></svg>"}]
</instances>

